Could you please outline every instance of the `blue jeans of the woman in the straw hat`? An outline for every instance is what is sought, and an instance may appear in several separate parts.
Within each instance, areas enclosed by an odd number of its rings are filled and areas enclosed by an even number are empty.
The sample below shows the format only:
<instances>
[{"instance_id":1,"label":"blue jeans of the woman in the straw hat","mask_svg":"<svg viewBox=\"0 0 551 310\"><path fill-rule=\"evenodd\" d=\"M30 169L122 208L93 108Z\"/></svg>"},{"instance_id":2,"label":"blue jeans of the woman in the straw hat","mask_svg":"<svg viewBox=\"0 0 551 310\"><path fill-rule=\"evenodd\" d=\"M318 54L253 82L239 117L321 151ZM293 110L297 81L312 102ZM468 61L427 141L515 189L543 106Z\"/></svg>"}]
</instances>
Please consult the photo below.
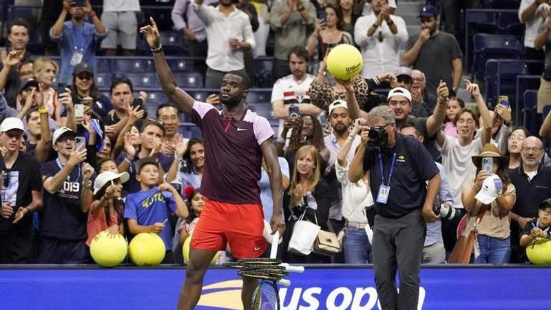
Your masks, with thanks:
<instances>
[{"instance_id":1,"label":"blue jeans of the woman in the straw hat","mask_svg":"<svg viewBox=\"0 0 551 310\"><path fill-rule=\"evenodd\" d=\"M475 264L507 264L511 256L509 237L493 238L486 235L478 236L480 255L475 258Z\"/></svg>"}]
</instances>

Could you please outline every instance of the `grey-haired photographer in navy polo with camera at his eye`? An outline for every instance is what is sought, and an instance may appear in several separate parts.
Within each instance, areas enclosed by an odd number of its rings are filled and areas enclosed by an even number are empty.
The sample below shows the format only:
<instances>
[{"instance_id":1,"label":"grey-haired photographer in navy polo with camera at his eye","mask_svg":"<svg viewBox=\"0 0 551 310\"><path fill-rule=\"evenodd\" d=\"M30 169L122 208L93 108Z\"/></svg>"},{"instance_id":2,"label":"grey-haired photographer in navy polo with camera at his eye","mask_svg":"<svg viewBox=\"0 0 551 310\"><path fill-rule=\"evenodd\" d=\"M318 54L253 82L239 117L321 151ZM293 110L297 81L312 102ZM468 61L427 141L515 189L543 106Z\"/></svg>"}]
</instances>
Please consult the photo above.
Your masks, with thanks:
<instances>
[{"instance_id":1,"label":"grey-haired photographer in navy polo with camera at his eye","mask_svg":"<svg viewBox=\"0 0 551 310\"><path fill-rule=\"evenodd\" d=\"M382 309L417 309L426 222L437 220L433 205L440 174L422 143L396 132L391 107L375 107L367 116L349 179L357 182L369 173L377 211L373 231L377 293Z\"/></svg>"}]
</instances>

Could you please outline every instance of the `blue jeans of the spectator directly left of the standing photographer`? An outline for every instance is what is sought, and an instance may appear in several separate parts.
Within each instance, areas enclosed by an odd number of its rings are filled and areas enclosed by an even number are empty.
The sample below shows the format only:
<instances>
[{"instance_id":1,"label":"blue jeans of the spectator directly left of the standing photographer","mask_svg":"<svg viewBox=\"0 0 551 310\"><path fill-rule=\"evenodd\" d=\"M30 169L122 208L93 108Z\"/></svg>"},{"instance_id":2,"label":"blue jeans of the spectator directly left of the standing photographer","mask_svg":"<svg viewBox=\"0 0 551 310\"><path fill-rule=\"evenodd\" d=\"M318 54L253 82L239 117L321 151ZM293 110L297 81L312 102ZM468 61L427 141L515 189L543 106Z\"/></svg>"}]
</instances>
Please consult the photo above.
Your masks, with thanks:
<instances>
[{"instance_id":1,"label":"blue jeans of the spectator directly left of the standing photographer","mask_svg":"<svg viewBox=\"0 0 551 310\"><path fill-rule=\"evenodd\" d=\"M366 264L371 261L371 243L365 229L346 227L344 229L344 262L346 264Z\"/></svg>"}]
</instances>

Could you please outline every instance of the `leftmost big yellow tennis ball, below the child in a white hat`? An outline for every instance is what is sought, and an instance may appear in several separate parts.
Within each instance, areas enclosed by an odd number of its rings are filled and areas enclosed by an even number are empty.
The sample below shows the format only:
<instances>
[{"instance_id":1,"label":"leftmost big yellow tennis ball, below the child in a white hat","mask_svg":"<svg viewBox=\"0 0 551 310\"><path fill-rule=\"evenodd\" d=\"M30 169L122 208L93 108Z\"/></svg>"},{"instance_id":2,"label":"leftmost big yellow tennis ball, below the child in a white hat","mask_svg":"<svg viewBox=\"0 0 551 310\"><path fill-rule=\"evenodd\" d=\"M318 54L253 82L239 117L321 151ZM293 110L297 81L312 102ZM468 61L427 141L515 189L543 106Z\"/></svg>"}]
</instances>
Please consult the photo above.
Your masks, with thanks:
<instances>
[{"instance_id":1,"label":"leftmost big yellow tennis ball, below the child in a white hat","mask_svg":"<svg viewBox=\"0 0 551 310\"><path fill-rule=\"evenodd\" d=\"M101 231L90 243L90 255L103 267L115 267L123 262L128 253L128 242L121 234Z\"/></svg>"}]
</instances>

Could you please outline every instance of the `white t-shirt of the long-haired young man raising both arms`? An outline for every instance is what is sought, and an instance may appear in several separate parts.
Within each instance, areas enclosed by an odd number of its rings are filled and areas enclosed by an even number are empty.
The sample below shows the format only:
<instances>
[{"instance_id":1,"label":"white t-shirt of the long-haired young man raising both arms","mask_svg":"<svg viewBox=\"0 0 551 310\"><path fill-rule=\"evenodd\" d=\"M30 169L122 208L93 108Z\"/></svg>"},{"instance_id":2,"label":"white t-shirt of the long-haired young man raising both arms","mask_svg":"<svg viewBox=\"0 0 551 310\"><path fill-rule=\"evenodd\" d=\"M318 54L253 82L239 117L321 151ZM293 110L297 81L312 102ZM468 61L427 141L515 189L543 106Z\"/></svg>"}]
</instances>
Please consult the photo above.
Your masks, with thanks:
<instances>
[{"instance_id":1,"label":"white t-shirt of the long-haired young man raising both arms","mask_svg":"<svg viewBox=\"0 0 551 310\"><path fill-rule=\"evenodd\" d=\"M472 156L480 154L482 139L475 138L470 144L461 146L457 138L445 135L444 145L437 148L442 153L442 165L448 174L450 192L452 192L454 207L463 209L461 191L463 184L475 179L477 167L472 163Z\"/></svg>"}]
</instances>

